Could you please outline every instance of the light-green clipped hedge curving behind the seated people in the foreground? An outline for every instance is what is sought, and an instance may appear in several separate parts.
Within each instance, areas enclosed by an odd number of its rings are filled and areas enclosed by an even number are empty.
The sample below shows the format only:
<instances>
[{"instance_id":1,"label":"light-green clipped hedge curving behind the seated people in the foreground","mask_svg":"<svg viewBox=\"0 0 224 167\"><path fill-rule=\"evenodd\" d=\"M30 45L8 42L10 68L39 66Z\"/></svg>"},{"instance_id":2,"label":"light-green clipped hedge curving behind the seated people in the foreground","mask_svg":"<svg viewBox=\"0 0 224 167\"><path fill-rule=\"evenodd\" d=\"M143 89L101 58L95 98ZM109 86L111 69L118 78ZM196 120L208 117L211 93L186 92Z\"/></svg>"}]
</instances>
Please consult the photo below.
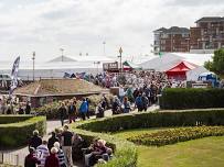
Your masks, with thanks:
<instances>
[{"instance_id":1,"label":"light-green clipped hedge curving behind the seated people in the foreground","mask_svg":"<svg viewBox=\"0 0 224 167\"><path fill-rule=\"evenodd\" d=\"M137 166L137 148L134 143L116 138L108 134L94 133L84 131L81 129L73 129L73 131L79 134L88 144L92 143L94 137L100 137L107 142L107 146L111 147L114 158L107 164L97 165L98 167L136 167Z\"/></svg>"}]
</instances>

